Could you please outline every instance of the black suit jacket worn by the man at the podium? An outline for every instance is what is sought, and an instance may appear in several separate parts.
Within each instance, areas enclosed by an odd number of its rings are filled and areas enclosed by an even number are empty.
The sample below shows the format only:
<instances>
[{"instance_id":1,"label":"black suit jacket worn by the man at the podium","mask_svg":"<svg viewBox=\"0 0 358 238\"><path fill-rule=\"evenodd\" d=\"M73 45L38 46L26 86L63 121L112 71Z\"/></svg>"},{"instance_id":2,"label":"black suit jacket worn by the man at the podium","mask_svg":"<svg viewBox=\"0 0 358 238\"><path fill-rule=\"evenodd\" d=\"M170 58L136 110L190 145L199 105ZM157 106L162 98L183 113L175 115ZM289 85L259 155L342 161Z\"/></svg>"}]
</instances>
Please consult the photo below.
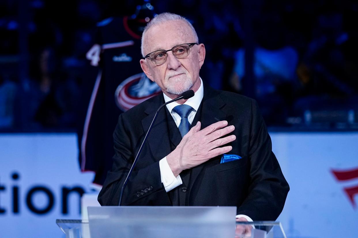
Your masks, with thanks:
<instances>
[{"instance_id":1,"label":"black suit jacket worn by the man at the podium","mask_svg":"<svg viewBox=\"0 0 358 238\"><path fill-rule=\"evenodd\" d=\"M98 196L102 206L118 205L122 184L156 110L163 103L163 95L158 95L119 116L113 133L113 167ZM204 84L199 110L193 125L199 120L205 128L227 120L229 125L235 126L232 134L236 135L236 140L231 143L233 149L229 154L242 158L220 163L221 156L218 156L183 171L190 174L185 185L188 187L185 205L237 206L237 214L245 214L253 220L276 220L284 207L289 186L272 152L271 138L256 101L236 93L213 90ZM125 188L122 205L172 205L170 193L161 183L159 160L180 140L173 118L168 109L163 108ZM144 194L140 194L142 190Z\"/></svg>"}]
</instances>

